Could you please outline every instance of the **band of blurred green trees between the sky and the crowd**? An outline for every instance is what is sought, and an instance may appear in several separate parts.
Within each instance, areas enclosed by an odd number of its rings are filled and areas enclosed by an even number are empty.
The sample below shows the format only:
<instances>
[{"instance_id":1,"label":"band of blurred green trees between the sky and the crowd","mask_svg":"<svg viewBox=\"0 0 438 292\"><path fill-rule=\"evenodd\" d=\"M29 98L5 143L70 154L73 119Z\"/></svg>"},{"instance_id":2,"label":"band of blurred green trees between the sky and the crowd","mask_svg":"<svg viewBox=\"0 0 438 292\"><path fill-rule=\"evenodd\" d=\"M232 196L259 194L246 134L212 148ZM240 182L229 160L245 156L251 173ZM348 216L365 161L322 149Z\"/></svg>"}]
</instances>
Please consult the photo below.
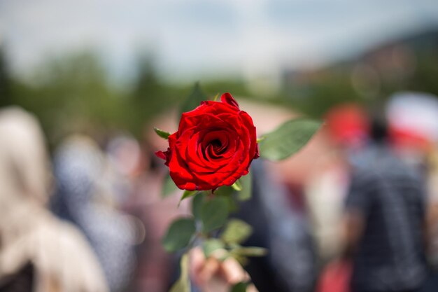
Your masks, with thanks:
<instances>
[{"instance_id":1,"label":"band of blurred green trees between the sky and the crowd","mask_svg":"<svg viewBox=\"0 0 438 292\"><path fill-rule=\"evenodd\" d=\"M132 86L125 88L114 85L99 57L90 52L52 58L34 69L24 81L11 74L0 50L0 106L16 104L34 112L41 120L50 146L71 132L87 132L99 139L99 135L111 131L127 130L141 138L145 125L169 105L183 108L183 100L193 86L193 83L164 81L152 61L139 57ZM239 98L261 99L321 118L335 104L354 101L367 106L400 90L438 95L437 64L435 50L416 52L414 73L398 82L382 76L379 93L371 97L364 97L353 88L354 62L321 69L304 84L285 81L272 96L251 97L248 83L240 78L202 81L201 87L209 97L226 90Z\"/></svg>"}]
</instances>

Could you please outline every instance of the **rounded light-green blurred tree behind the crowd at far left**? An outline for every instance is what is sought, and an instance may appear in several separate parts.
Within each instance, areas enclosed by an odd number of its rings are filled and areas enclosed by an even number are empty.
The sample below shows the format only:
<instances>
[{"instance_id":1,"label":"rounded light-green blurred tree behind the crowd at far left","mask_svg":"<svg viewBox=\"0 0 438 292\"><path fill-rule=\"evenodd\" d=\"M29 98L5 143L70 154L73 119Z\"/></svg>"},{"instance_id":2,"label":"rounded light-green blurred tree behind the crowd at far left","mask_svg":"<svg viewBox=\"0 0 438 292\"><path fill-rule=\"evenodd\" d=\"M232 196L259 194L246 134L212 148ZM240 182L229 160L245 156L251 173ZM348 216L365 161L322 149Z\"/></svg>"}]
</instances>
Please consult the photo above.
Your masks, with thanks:
<instances>
[{"instance_id":1,"label":"rounded light-green blurred tree behind the crowd at far left","mask_svg":"<svg viewBox=\"0 0 438 292\"><path fill-rule=\"evenodd\" d=\"M53 59L36 70L31 83L18 83L15 102L40 118L51 141L71 132L102 133L125 125L125 99L110 88L92 53Z\"/></svg>"}]
</instances>

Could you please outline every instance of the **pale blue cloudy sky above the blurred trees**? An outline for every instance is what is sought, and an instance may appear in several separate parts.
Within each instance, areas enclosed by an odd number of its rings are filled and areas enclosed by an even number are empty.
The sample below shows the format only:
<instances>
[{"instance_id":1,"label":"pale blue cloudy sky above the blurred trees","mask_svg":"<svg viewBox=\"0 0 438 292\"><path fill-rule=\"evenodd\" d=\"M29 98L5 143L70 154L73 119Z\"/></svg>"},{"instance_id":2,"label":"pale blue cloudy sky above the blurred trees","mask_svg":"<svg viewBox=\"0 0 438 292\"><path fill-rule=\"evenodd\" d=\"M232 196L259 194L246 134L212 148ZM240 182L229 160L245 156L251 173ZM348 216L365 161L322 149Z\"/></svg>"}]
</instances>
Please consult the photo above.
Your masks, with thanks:
<instances>
[{"instance_id":1,"label":"pale blue cloudy sky above the blurred trees","mask_svg":"<svg viewBox=\"0 0 438 292\"><path fill-rule=\"evenodd\" d=\"M436 0L0 0L0 43L17 74L93 50L119 77L147 52L169 80L250 78L434 25Z\"/></svg>"}]
</instances>

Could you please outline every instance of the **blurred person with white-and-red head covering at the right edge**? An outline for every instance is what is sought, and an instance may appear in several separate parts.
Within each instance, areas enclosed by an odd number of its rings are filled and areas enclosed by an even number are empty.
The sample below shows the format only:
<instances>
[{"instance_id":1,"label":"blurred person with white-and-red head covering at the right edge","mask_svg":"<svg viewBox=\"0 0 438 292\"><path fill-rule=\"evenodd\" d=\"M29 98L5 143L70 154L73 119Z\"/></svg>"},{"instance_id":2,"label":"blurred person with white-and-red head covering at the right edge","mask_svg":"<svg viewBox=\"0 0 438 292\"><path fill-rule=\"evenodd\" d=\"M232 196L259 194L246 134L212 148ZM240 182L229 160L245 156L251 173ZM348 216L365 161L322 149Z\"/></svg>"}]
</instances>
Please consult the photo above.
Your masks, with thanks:
<instances>
[{"instance_id":1,"label":"blurred person with white-and-red head covering at the right edge","mask_svg":"<svg viewBox=\"0 0 438 292\"><path fill-rule=\"evenodd\" d=\"M432 277L422 291L438 285L438 97L427 92L397 92L390 97L388 132L397 153L427 177L428 263Z\"/></svg>"}]
</instances>

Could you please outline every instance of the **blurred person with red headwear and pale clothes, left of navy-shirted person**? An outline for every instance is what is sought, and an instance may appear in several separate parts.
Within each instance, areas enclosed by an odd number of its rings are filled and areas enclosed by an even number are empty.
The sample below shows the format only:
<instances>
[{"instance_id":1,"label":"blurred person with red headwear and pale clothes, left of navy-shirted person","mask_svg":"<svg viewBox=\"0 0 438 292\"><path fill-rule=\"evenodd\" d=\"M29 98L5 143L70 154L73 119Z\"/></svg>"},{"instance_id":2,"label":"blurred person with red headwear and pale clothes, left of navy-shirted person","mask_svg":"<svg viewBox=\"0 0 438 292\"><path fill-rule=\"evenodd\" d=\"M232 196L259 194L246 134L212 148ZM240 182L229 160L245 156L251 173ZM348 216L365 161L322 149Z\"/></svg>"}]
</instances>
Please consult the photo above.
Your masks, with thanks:
<instances>
[{"instance_id":1,"label":"blurred person with red headwear and pale clothes, left of navy-shirted person","mask_svg":"<svg viewBox=\"0 0 438 292\"><path fill-rule=\"evenodd\" d=\"M325 155L305 186L306 207L318 247L320 268L339 258L341 253L339 224L342 222L350 165L369 139L367 113L358 104L334 106L325 114L325 121L321 131Z\"/></svg>"}]
</instances>

